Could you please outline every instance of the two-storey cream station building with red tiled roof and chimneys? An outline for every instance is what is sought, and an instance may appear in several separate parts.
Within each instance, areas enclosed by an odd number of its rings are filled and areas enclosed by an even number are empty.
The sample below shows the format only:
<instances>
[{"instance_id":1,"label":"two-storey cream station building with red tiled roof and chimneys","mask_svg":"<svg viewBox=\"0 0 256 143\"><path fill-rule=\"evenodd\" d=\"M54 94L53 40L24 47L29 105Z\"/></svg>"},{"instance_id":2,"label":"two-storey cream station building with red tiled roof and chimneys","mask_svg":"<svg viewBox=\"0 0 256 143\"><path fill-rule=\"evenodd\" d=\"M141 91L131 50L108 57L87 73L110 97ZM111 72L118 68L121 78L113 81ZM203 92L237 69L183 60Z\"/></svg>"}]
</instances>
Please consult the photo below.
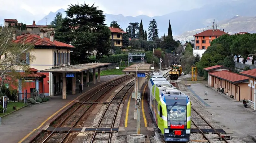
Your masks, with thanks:
<instances>
[{"instance_id":1,"label":"two-storey cream station building with red tiled roof and chimneys","mask_svg":"<svg viewBox=\"0 0 256 143\"><path fill-rule=\"evenodd\" d=\"M51 31L50 37L45 37L45 31L40 30L40 35L35 34L23 34L16 36L16 33L13 33L13 43L29 43L34 45L34 50L30 54L25 54L26 59L24 64L28 64L33 68L33 74L45 75L46 77L42 81L42 89L39 88L40 81L39 79L35 82L35 88L33 86L25 86L30 91L39 91L40 93L46 96L53 96L55 94L62 92L62 75L61 73L50 73L50 72L40 72L44 69L49 69L58 66L65 66L70 64L70 52L74 49L72 45L56 41L54 39L54 32ZM33 55L36 59L29 61L29 55ZM26 82L34 82L34 80L27 80ZM19 81L21 83L21 81ZM19 84L18 92L22 92L24 87Z\"/></svg>"}]
</instances>

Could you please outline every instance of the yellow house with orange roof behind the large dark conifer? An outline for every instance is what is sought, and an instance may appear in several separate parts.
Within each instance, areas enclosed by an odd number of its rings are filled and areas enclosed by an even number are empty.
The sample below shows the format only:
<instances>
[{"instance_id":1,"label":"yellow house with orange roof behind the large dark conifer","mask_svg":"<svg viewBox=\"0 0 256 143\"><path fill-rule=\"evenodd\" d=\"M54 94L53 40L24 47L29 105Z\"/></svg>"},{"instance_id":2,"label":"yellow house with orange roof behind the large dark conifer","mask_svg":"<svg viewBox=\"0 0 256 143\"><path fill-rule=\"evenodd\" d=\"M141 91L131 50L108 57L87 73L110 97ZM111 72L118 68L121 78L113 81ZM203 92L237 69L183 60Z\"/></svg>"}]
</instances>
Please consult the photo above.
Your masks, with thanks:
<instances>
[{"instance_id":1,"label":"yellow house with orange roof behind the large dark conifer","mask_svg":"<svg viewBox=\"0 0 256 143\"><path fill-rule=\"evenodd\" d=\"M114 45L117 47L123 46L123 34L126 32L120 28L108 27L111 31L110 39L114 41Z\"/></svg>"}]
</instances>

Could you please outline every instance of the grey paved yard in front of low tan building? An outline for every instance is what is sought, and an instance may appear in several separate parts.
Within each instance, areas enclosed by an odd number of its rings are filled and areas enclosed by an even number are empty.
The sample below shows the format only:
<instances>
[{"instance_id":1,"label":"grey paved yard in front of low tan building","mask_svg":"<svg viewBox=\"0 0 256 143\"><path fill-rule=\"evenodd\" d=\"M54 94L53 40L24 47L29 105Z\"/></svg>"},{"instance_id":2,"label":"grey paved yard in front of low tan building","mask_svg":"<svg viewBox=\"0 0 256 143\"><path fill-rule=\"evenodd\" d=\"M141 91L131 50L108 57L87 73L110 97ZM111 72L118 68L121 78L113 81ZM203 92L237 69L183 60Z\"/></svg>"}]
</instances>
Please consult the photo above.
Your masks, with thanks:
<instances>
[{"instance_id":1,"label":"grey paved yard in front of low tan building","mask_svg":"<svg viewBox=\"0 0 256 143\"><path fill-rule=\"evenodd\" d=\"M191 84L188 89L200 101L203 100L202 103L207 107L205 110L214 115L213 119L231 129L234 136L244 138L256 134L255 112L244 108L242 102L231 99L204 84ZM207 96L204 96L204 91L208 91Z\"/></svg>"}]
</instances>

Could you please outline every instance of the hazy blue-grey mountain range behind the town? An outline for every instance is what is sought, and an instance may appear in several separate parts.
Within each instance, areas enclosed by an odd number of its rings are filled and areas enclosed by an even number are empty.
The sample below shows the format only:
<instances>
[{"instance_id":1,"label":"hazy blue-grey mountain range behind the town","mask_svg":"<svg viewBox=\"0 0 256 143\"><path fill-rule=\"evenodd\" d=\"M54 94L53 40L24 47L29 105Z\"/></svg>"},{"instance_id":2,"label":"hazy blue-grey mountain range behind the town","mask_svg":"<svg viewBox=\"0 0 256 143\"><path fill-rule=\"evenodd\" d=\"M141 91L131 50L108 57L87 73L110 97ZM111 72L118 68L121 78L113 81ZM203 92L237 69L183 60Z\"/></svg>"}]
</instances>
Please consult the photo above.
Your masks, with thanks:
<instances>
[{"instance_id":1,"label":"hazy blue-grey mountain range behind the town","mask_svg":"<svg viewBox=\"0 0 256 143\"><path fill-rule=\"evenodd\" d=\"M249 17L253 18L254 16L256 16L255 7L256 7L255 0L228 0L228 1L223 0L223 2L218 2L217 4L208 4L192 10L175 11L169 14L154 16L154 17L149 17L147 15L139 15L136 17L132 17L132 16L124 16L122 14L117 14L117 15L105 14L106 16L105 23L109 26L111 21L116 20L117 23L122 27L122 29L125 30L130 22L140 22L140 20L142 19L144 29L148 30L149 22L152 19L155 19L159 29L159 36L162 36L164 35L164 33L167 34L168 23L170 19L173 35L176 38L175 40L177 40L178 37L179 39L186 38L187 37L186 33L189 34L191 33L191 31L197 32L197 31L202 31L202 29L207 29L212 27L212 22L214 18L215 18L215 23L217 22L217 24L220 25L221 29L226 29L225 31L230 30L230 32L235 32L235 31L232 31L232 27L236 27L234 26L236 25L235 21L237 20L240 20L239 22L243 20L248 21ZM41 20L38 20L37 25L46 25L46 20L47 20L47 24L49 24L54 19L55 14L58 12L61 12L63 16L66 15L64 9L59 9L56 12L50 12ZM26 11L25 15L27 16L24 16L24 14L22 15L16 14L16 17L18 17L16 19L18 19L18 21L27 20L28 24L32 24L33 22L32 17L35 17L35 16L28 13L29 12ZM4 15L7 15L7 14L4 14ZM238 19L236 18L236 15L239 15ZM19 20L21 19L20 17L22 16L23 16L23 19ZM4 18L15 18L15 13L9 14L8 17L4 17ZM3 20L4 18L3 18L3 14L1 13L0 21ZM232 18L235 18L233 19L234 21L232 21ZM232 26L230 26L230 24L227 24L227 23L230 23L228 22L229 20L233 23ZM254 24L254 23L252 22L251 24ZM249 25L246 25L245 22L244 22L244 26L242 26L243 23L240 23L239 25L240 26L238 28L241 28L241 29L237 29L237 31L241 31L241 30L246 31L247 29L248 29L248 32L253 31L252 26L251 28L247 28L249 27Z\"/></svg>"}]
</instances>

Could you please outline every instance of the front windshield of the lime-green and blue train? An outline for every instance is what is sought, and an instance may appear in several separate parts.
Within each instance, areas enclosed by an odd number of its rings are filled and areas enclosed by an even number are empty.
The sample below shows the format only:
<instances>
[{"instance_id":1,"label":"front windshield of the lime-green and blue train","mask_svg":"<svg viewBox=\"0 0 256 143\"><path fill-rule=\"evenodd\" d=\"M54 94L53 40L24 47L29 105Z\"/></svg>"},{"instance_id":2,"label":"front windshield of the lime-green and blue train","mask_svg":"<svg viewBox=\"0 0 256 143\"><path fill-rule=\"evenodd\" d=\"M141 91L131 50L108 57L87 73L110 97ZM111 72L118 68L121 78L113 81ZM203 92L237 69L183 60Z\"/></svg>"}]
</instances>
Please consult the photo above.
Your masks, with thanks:
<instances>
[{"instance_id":1,"label":"front windshield of the lime-green and blue train","mask_svg":"<svg viewBox=\"0 0 256 143\"><path fill-rule=\"evenodd\" d=\"M186 121L186 105L167 105L168 121Z\"/></svg>"}]
</instances>

